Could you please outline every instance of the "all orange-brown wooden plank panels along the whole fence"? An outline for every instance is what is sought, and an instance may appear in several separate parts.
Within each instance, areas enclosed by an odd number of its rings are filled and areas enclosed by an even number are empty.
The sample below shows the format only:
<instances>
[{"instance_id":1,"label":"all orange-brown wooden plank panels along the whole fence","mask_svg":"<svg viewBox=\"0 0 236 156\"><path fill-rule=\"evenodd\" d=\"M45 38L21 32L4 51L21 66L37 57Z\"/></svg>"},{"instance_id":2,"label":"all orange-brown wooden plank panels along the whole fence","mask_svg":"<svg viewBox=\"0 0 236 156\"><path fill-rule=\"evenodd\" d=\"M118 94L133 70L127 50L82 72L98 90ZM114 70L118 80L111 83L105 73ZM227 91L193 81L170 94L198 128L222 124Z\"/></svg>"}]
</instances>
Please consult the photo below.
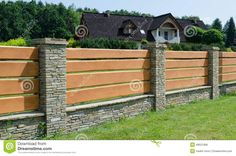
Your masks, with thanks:
<instances>
[{"instance_id":1,"label":"all orange-brown wooden plank panels along the whole fence","mask_svg":"<svg viewBox=\"0 0 236 156\"><path fill-rule=\"evenodd\" d=\"M150 92L148 50L68 48L67 105ZM220 82L236 81L236 53L220 53ZM39 108L38 49L0 47L0 114ZM166 51L166 90L208 85L208 52Z\"/></svg>"}]
</instances>

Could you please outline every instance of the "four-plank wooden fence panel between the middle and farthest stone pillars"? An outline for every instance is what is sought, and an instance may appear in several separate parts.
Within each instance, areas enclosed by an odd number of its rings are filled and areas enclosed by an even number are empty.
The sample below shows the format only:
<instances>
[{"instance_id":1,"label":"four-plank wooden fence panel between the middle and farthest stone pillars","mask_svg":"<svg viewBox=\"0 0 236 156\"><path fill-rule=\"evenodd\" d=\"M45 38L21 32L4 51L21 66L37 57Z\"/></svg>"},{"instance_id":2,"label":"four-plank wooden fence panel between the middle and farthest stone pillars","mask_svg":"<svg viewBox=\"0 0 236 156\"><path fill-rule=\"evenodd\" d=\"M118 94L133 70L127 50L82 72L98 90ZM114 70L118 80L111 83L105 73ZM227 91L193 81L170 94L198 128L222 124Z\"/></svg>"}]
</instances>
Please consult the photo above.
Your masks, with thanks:
<instances>
[{"instance_id":1,"label":"four-plank wooden fence panel between the middle and farthest stone pillars","mask_svg":"<svg viewBox=\"0 0 236 156\"><path fill-rule=\"evenodd\" d=\"M166 90L205 86L208 84L206 51L166 52Z\"/></svg>"}]
</instances>

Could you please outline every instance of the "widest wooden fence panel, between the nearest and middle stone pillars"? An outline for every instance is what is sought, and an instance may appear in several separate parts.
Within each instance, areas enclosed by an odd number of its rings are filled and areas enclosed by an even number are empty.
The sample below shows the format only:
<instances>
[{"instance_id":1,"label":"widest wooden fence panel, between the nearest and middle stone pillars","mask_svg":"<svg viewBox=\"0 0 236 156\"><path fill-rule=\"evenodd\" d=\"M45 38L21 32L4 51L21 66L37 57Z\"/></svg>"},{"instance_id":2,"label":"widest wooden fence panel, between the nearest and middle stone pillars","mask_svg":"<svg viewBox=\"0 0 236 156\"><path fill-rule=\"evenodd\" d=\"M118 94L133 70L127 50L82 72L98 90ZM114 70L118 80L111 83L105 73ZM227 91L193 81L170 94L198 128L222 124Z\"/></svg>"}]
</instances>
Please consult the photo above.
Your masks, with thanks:
<instances>
[{"instance_id":1,"label":"widest wooden fence panel, between the nearest and middle stone pillars","mask_svg":"<svg viewBox=\"0 0 236 156\"><path fill-rule=\"evenodd\" d=\"M67 104L150 92L147 50L67 49Z\"/></svg>"}]
</instances>

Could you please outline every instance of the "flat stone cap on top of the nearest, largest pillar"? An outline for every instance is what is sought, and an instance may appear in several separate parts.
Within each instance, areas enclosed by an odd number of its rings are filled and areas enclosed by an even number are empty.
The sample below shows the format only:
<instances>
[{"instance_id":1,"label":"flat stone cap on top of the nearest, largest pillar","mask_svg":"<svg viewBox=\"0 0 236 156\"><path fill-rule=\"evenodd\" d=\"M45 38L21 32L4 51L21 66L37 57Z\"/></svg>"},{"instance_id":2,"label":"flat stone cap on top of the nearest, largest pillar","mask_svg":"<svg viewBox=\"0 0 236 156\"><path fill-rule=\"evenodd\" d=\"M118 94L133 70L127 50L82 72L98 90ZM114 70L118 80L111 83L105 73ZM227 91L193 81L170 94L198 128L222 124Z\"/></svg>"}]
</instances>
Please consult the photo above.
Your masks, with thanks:
<instances>
[{"instance_id":1,"label":"flat stone cap on top of the nearest, largest pillar","mask_svg":"<svg viewBox=\"0 0 236 156\"><path fill-rule=\"evenodd\" d=\"M32 45L67 45L65 39L60 38L37 38L32 40Z\"/></svg>"}]
</instances>

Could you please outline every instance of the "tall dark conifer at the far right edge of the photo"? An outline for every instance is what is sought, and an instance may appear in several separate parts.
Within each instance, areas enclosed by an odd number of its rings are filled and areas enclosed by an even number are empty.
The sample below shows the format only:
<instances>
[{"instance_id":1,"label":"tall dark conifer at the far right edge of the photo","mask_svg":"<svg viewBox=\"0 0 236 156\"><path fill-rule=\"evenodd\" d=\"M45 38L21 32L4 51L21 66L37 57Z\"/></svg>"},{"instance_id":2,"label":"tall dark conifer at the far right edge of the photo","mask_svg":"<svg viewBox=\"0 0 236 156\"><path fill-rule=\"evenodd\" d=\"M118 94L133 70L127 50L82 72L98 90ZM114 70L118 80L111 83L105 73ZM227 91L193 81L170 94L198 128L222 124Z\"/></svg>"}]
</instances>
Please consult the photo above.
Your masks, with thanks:
<instances>
[{"instance_id":1,"label":"tall dark conifer at the far right edge of the photo","mask_svg":"<svg viewBox=\"0 0 236 156\"><path fill-rule=\"evenodd\" d=\"M233 17L230 18L228 27L226 29L226 47L232 46L235 39L235 23Z\"/></svg>"}]
</instances>

